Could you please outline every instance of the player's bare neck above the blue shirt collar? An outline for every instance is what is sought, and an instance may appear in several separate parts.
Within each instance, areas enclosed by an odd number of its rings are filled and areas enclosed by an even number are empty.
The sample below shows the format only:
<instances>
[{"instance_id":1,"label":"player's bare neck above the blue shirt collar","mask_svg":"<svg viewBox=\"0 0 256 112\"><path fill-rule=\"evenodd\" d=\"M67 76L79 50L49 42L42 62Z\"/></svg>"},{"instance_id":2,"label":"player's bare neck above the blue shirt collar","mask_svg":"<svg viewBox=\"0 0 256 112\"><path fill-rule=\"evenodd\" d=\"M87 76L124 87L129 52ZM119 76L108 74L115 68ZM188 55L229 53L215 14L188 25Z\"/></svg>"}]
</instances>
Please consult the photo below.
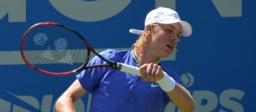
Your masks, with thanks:
<instances>
[{"instance_id":1,"label":"player's bare neck above the blue shirt collar","mask_svg":"<svg viewBox=\"0 0 256 112\"><path fill-rule=\"evenodd\" d=\"M149 51L137 51L134 50L134 55L139 65L149 64L149 63L159 63L160 58L153 57Z\"/></svg>"}]
</instances>

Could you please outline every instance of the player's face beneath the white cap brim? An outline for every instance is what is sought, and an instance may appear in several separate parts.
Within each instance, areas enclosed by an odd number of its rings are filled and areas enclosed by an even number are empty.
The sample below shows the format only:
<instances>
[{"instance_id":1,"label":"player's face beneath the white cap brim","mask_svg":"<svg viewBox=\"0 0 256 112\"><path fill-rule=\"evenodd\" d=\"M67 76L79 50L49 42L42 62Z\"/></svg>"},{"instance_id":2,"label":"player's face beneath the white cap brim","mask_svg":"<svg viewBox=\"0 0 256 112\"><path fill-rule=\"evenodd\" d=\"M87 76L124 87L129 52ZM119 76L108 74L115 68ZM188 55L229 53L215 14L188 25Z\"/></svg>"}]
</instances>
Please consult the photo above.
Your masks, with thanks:
<instances>
[{"instance_id":1,"label":"player's face beneath the white cap brim","mask_svg":"<svg viewBox=\"0 0 256 112\"><path fill-rule=\"evenodd\" d=\"M174 50L181 36L181 24L157 24L156 26L151 26L150 31L150 49L159 58L167 57Z\"/></svg>"}]
</instances>

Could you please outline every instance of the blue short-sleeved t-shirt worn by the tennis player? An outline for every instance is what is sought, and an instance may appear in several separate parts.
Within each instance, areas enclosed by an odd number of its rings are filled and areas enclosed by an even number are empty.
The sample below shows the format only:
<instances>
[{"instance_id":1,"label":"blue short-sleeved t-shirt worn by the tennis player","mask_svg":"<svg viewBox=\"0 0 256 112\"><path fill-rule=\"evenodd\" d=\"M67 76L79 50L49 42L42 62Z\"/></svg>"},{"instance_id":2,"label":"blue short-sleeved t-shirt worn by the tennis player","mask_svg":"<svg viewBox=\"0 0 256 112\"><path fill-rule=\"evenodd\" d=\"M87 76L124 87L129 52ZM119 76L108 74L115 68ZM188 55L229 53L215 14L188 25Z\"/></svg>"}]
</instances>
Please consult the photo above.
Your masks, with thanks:
<instances>
[{"instance_id":1,"label":"blue short-sleeved t-shirt worn by the tennis player","mask_svg":"<svg viewBox=\"0 0 256 112\"><path fill-rule=\"evenodd\" d=\"M139 67L133 51L108 49L100 52L103 57ZM88 65L106 64L94 57ZM158 63L161 66L161 63ZM163 68L163 67L162 67ZM163 70L177 83L183 82L174 71ZM168 95L156 82L145 82L140 76L109 68L94 68L76 75L82 87L91 92L90 111L164 111L169 103Z\"/></svg>"}]
</instances>

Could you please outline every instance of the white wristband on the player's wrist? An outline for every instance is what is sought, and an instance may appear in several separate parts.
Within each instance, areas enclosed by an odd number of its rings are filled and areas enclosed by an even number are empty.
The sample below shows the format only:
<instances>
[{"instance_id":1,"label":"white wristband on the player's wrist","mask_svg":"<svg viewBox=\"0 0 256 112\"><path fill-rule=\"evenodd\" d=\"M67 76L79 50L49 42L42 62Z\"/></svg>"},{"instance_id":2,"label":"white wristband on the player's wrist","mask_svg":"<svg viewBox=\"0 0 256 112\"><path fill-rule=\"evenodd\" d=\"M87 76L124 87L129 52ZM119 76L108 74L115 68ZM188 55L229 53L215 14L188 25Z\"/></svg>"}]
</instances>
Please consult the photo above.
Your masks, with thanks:
<instances>
[{"instance_id":1,"label":"white wristband on the player's wrist","mask_svg":"<svg viewBox=\"0 0 256 112\"><path fill-rule=\"evenodd\" d=\"M175 87L175 80L164 72L164 77L157 81L159 86L165 91L170 92Z\"/></svg>"}]
</instances>

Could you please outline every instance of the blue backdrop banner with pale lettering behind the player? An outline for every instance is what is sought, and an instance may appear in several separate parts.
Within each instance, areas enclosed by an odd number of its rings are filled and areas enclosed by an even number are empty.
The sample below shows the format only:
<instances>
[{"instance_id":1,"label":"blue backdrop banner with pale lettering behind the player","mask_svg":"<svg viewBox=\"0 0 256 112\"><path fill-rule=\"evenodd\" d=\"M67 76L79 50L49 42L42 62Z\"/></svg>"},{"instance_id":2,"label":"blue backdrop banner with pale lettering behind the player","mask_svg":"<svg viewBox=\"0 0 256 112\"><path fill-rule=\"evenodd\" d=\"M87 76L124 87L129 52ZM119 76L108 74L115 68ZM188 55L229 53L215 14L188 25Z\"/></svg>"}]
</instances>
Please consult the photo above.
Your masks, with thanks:
<instances>
[{"instance_id":1,"label":"blue backdrop banner with pale lettering behind the player","mask_svg":"<svg viewBox=\"0 0 256 112\"><path fill-rule=\"evenodd\" d=\"M162 60L176 71L193 96L195 111L256 111L256 1L0 1L0 111L55 111L57 98L75 80L29 68L20 44L33 24L54 21L70 26L97 50L131 49L144 29L146 14L169 7L188 21L193 33L181 38L178 51ZM76 103L88 111L91 95ZM166 111L180 111L169 103Z\"/></svg>"}]
</instances>

